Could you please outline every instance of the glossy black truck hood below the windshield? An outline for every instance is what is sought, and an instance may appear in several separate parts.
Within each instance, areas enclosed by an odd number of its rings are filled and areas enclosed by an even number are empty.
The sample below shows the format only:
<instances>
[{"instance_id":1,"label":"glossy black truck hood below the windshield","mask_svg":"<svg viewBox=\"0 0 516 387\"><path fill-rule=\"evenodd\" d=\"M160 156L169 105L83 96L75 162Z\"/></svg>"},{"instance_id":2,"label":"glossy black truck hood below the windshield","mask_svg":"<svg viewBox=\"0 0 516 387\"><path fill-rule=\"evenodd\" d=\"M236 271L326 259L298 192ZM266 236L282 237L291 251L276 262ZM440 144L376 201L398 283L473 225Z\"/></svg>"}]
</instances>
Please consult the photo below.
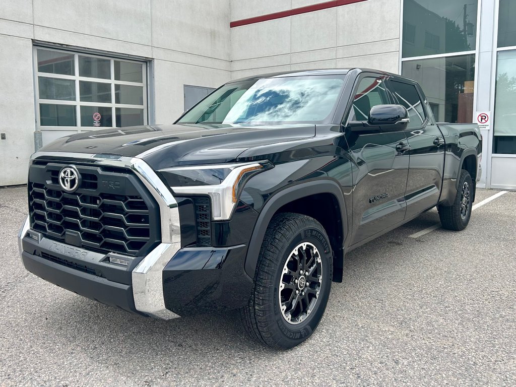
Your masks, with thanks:
<instances>
[{"instance_id":1,"label":"glossy black truck hood below the windshield","mask_svg":"<svg viewBox=\"0 0 516 387\"><path fill-rule=\"evenodd\" d=\"M252 147L315 136L315 125L152 125L110 128L59 138L46 152L138 156L154 169L229 163Z\"/></svg>"}]
</instances>

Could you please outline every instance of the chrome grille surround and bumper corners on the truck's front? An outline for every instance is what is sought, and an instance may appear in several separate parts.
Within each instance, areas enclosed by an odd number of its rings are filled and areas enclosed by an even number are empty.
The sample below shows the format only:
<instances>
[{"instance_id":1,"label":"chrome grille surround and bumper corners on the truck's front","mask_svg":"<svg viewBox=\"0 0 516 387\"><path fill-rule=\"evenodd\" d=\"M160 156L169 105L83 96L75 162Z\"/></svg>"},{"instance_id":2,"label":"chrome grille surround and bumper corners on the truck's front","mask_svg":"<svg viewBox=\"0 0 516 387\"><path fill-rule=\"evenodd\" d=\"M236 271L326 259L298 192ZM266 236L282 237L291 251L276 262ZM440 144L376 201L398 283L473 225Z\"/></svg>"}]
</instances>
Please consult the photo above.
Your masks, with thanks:
<instances>
[{"instance_id":1,"label":"chrome grille surround and bumper corners on the truck's front","mask_svg":"<svg viewBox=\"0 0 516 387\"><path fill-rule=\"evenodd\" d=\"M181 249L178 203L152 168L138 157L86 153L37 152L33 154L31 160L44 156L61 158L70 164L73 164L72 160L82 160L90 165L124 167L134 171L159 204L162 235L162 243L146 255L132 271L135 308L137 311L153 317L163 319L179 317L166 309L163 296L163 269L175 253ZM20 255L23 252L22 239L26 236L29 227L30 222L27 217L18 234Z\"/></svg>"}]
</instances>

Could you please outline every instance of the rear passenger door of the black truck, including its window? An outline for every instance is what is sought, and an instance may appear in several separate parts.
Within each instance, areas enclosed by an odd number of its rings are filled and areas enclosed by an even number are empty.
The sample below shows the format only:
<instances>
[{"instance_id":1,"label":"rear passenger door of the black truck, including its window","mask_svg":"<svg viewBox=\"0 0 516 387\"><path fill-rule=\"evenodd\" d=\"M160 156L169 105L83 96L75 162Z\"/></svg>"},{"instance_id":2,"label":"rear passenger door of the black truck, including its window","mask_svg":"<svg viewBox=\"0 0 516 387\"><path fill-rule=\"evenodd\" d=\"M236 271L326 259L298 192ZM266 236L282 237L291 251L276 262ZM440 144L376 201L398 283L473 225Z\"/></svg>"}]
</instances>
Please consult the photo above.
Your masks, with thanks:
<instances>
[{"instance_id":1,"label":"rear passenger door of the black truck, including its window","mask_svg":"<svg viewBox=\"0 0 516 387\"><path fill-rule=\"evenodd\" d=\"M427 112L427 101L417 84L391 79L389 87L397 103L407 108L410 122L406 136L410 146L405 218L421 213L439 201L444 167L444 139Z\"/></svg>"}]
</instances>

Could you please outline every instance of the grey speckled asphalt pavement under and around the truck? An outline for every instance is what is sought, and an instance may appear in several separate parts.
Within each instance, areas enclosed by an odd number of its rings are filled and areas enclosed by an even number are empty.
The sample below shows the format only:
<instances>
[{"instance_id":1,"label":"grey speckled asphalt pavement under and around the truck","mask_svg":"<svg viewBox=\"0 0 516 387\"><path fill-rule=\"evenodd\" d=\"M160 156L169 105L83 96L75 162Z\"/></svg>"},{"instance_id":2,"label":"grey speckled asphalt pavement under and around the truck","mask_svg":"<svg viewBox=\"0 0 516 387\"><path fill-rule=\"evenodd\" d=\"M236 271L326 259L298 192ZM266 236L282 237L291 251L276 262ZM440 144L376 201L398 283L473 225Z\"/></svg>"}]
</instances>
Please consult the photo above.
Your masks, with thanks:
<instances>
[{"instance_id":1,"label":"grey speckled asphalt pavement under and around the truck","mask_svg":"<svg viewBox=\"0 0 516 387\"><path fill-rule=\"evenodd\" d=\"M37 278L26 213L26 187L0 188L0 386L516 385L516 192L464 231L409 237L432 210L347 254L316 332L279 352L235 312L155 320Z\"/></svg>"}]
</instances>

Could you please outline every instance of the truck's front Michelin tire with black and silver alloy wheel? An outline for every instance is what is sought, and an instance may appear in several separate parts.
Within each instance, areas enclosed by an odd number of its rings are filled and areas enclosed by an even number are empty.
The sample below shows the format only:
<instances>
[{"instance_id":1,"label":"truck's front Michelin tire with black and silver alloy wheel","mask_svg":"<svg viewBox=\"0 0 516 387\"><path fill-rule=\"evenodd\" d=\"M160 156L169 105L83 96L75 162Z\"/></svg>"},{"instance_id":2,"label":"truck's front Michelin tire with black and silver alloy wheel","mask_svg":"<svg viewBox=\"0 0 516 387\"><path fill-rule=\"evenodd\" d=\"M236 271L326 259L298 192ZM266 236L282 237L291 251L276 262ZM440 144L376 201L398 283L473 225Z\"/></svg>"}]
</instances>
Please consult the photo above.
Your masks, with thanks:
<instances>
[{"instance_id":1,"label":"truck's front Michelin tire with black and silver alloy wheel","mask_svg":"<svg viewBox=\"0 0 516 387\"><path fill-rule=\"evenodd\" d=\"M307 340L326 309L332 270L329 238L318 221L275 215L260 249L249 304L240 310L248 335L274 349Z\"/></svg>"}]
</instances>

